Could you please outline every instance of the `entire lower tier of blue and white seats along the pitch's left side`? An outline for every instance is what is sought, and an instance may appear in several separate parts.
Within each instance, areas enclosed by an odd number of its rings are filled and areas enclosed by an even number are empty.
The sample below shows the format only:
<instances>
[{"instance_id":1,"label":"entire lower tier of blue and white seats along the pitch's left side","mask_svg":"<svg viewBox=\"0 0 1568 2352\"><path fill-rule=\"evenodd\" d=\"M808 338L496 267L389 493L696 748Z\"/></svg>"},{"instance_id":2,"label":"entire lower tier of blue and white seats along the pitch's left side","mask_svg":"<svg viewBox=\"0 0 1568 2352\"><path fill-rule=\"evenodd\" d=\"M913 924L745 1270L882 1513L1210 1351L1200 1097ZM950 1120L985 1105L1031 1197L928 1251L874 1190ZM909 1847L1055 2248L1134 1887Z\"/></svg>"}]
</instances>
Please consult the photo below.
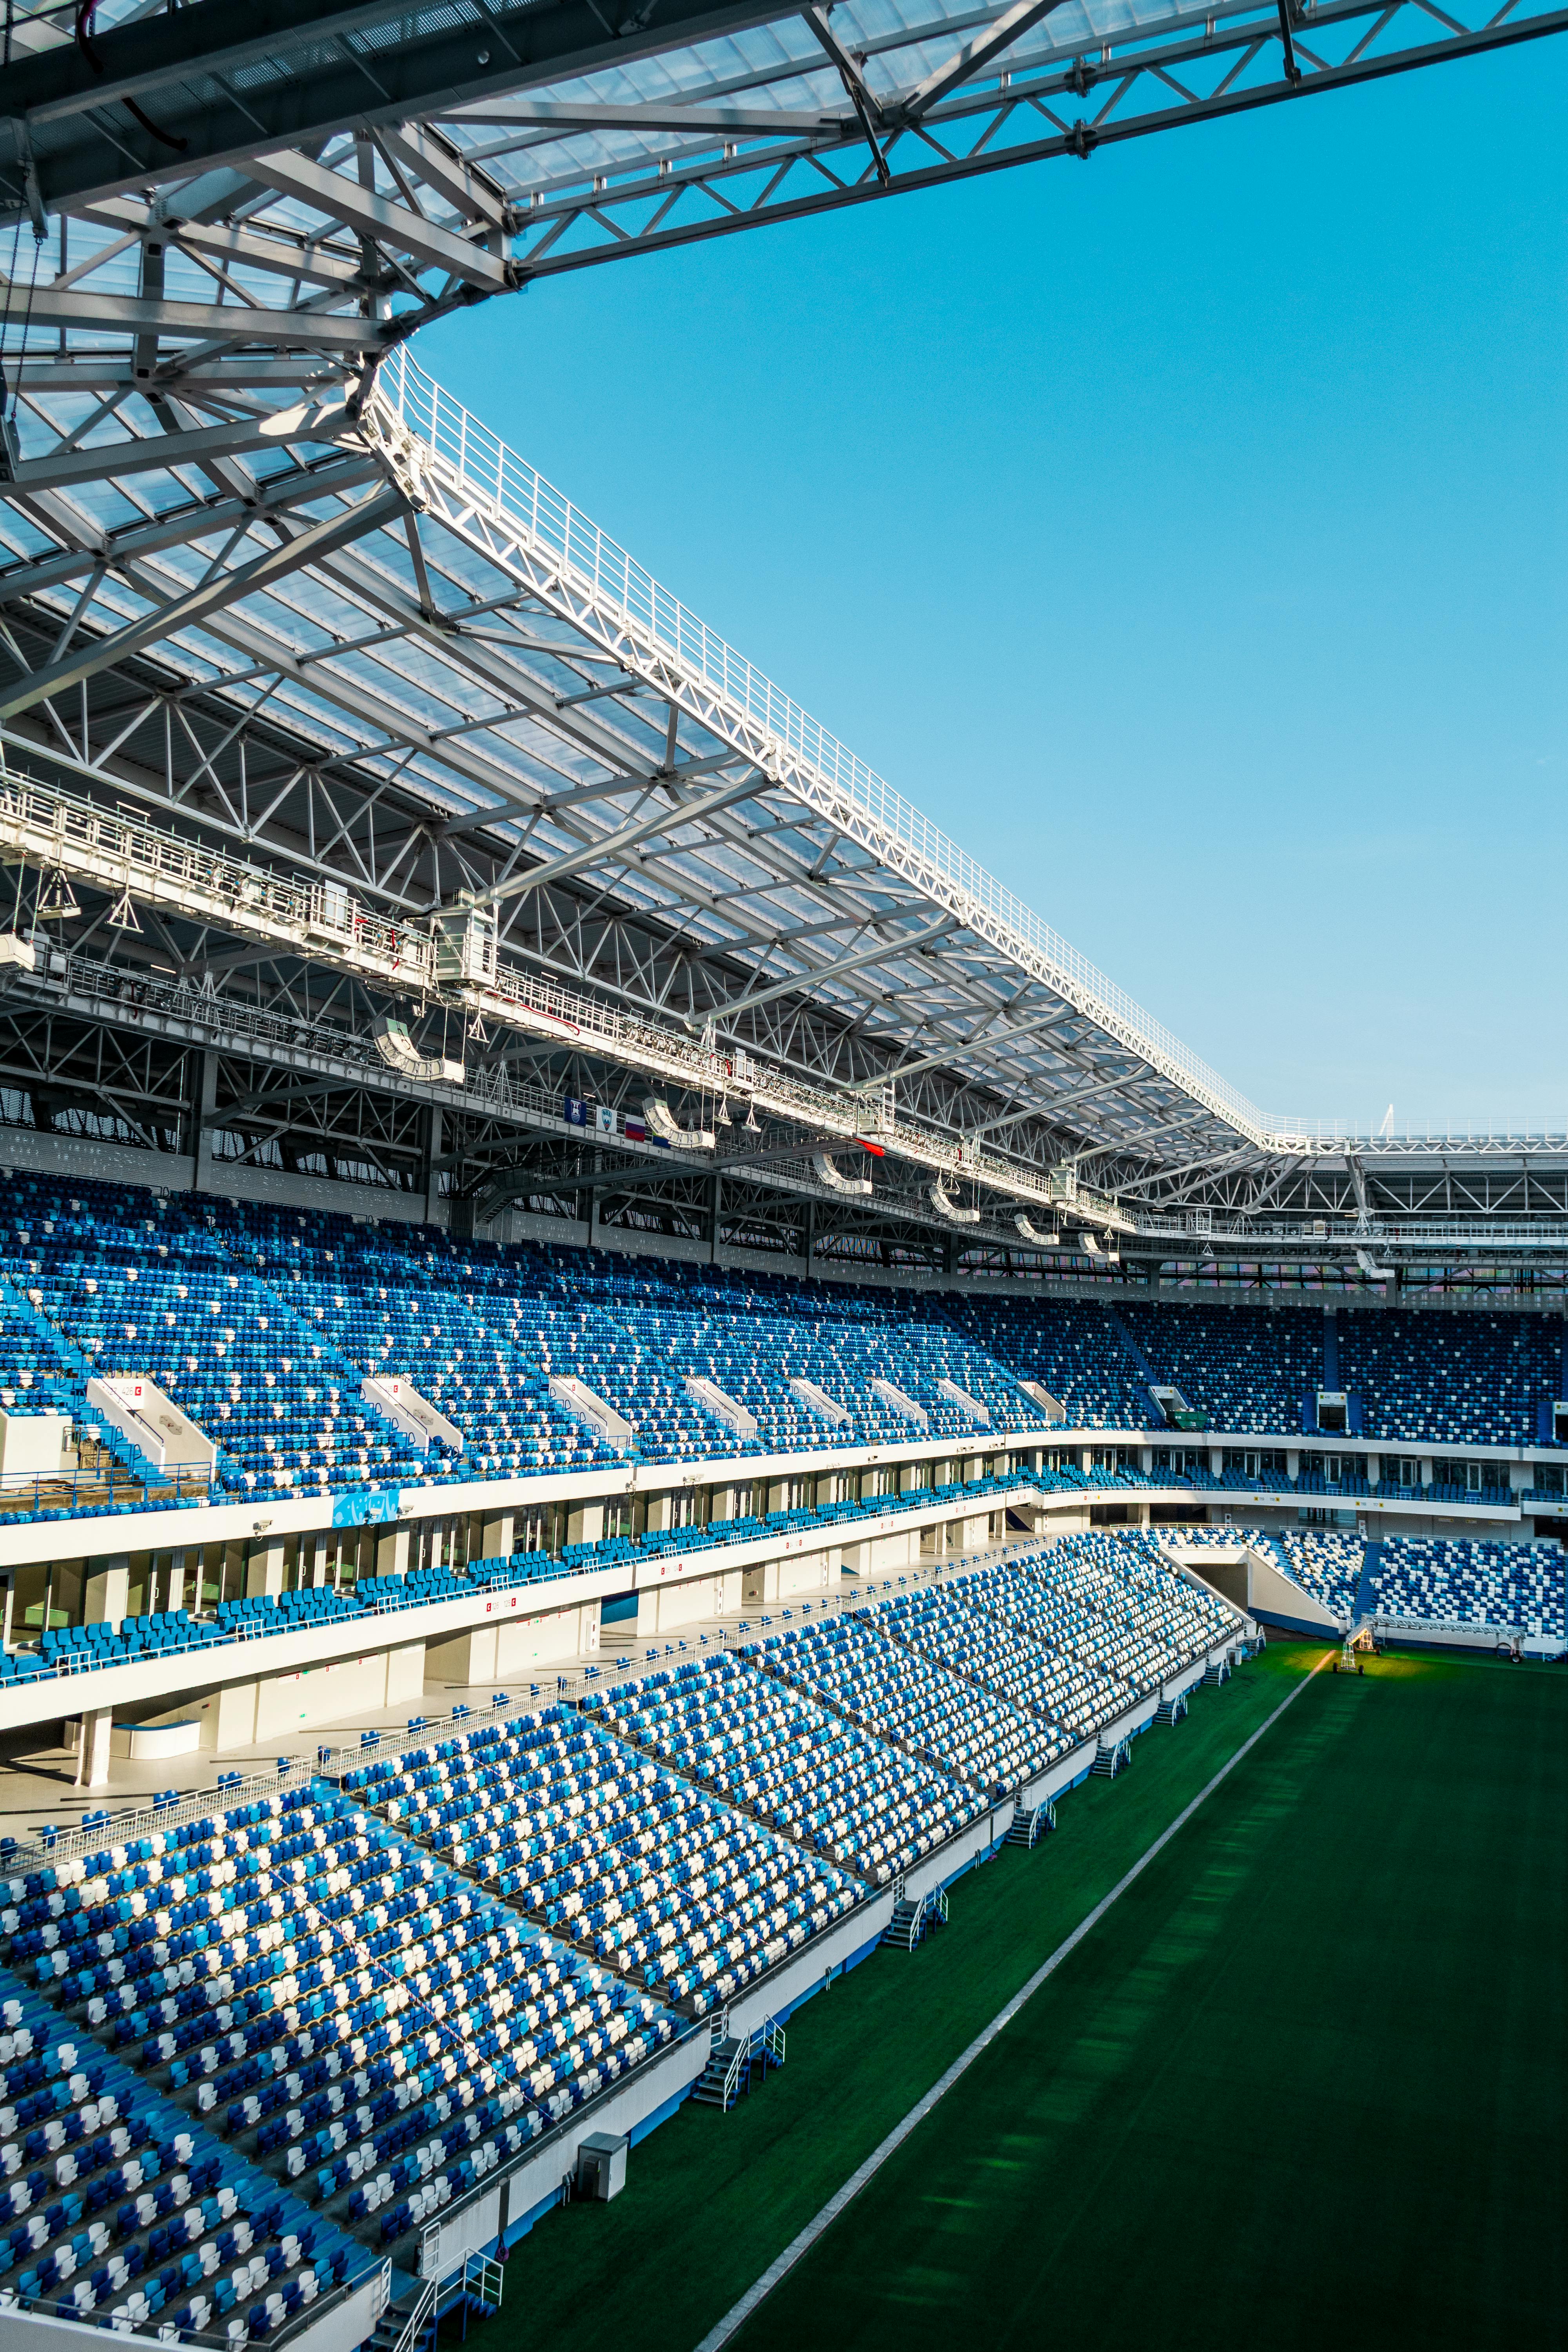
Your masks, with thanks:
<instances>
[{"instance_id":1,"label":"entire lower tier of blue and white seats along the pitch's left side","mask_svg":"<svg viewBox=\"0 0 1568 2352\"><path fill-rule=\"evenodd\" d=\"M1037 1698L1058 1670L1124 1696L1063 1646L1072 1611L1086 1656L1192 1630L1143 1538L1081 1548L1060 1590L1053 1557L1011 1578L1067 1597L1053 1646L1009 1625L1009 1571L980 1571L19 1867L0 2296L240 2347L371 2258L411 2265L433 2213L682 2013L1056 1762L1070 1729Z\"/></svg>"}]
</instances>

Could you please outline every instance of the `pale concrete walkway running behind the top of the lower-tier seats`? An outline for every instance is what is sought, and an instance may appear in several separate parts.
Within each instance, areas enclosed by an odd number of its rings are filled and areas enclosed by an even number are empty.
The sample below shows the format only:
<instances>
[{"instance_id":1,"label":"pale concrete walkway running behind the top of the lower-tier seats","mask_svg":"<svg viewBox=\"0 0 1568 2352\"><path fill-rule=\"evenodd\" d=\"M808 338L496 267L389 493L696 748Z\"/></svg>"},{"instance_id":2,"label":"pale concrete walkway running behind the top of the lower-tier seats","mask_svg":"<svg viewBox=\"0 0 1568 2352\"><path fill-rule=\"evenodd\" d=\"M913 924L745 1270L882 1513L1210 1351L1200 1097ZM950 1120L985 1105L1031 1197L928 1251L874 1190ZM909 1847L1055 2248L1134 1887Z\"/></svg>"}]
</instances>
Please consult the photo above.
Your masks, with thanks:
<instances>
[{"instance_id":1,"label":"pale concrete walkway running behind the top of the lower-tier seats","mask_svg":"<svg viewBox=\"0 0 1568 2352\"><path fill-rule=\"evenodd\" d=\"M891 1599L898 1590L931 1585L940 1578L990 1566L1032 1543L1034 1538L1030 1536L1013 1536L1009 1543L992 1545L990 1550L961 1552L943 1562L879 1569L865 1576L846 1573L842 1585L820 1602L811 1599L809 1611L799 1599L769 1602L766 1609L750 1609L743 1616L705 1618L684 1625L679 1632L646 1635L642 1639L623 1625L604 1625L597 1651L562 1661L559 1668L543 1670L541 1679L510 1677L505 1684L480 1684L473 1689L440 1684L430 1686L418 1703L404 1698L397 1708L362 1712L343 1724L324 1724L287 1745L273 1740L273 1745L261 1743L233 1755L226 1752L223 1757L214 1757L209 1750L167 1757L160 1764L132 1764L125 1757L115 1757L110 1764L110 1785L92 1792L75 1785L75 1748L59 1748L45 1738L38 1748L24 1748L0 1762L0 1837L38 1844L38 1832L45 1825L52 1830L73 1830L82 1813L122 1813L139 1804L150 1804L153 1795L162 1790L179 1790L181 1795L214 1790L219 1795L219 1771L244 1773L247 1778L252 1773L275 1776L284 1755L303 1778L320 1769L317 1750L336 1750L331 1771L339 1771L360 1752L362 1731L395 1733L402 1745L409 1738L414 1719L421 1724L421 1733L416 1736L437 1736L451 1722L454 1705L465 1705L475 1719L482 1719L498 1712L498 1700L515 1715L524 1708L550 1705L557 1698L578 1698L583 1691L604 1689L651 1668L670 1668L682 1658L701 1658L712 1649L726 1649L764 1632L783 1632L785 1625L811 1623L823 1609L837 1613L853 1609L863 1599Z\"/></svg>"}]
</instances>

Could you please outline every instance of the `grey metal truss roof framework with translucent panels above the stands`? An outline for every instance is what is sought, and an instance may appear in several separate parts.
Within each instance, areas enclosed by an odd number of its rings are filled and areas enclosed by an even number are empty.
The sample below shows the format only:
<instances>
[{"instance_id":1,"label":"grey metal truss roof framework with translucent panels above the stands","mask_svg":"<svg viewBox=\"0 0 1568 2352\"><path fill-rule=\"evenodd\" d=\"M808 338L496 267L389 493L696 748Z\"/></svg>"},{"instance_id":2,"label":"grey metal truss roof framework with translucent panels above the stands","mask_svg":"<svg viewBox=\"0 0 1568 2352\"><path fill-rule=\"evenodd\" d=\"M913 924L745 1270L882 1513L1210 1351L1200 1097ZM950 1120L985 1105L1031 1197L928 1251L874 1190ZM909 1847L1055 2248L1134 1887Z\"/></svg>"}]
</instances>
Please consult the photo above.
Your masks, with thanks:
<instances>
[{"instance_id":1,"label":"grey metal truss roof framework with translucent panels above the stands","mask_svg":"<svg viewBox=\"0 0 1568 2352\"><path fill-rule=\"evenodd\" d=\"M1041 1265L1084 1232L1154 1258L1563 1251L1566 1136L1255 1110L409 355L531 278L1563 24L1422 0L14 21L0 844L14 936L56 948L0 967L5 1115L891 1265ZM649 1087L670 1150L623 1122L590 1145L562 1110Z\"/></svg>"}]
</instances>

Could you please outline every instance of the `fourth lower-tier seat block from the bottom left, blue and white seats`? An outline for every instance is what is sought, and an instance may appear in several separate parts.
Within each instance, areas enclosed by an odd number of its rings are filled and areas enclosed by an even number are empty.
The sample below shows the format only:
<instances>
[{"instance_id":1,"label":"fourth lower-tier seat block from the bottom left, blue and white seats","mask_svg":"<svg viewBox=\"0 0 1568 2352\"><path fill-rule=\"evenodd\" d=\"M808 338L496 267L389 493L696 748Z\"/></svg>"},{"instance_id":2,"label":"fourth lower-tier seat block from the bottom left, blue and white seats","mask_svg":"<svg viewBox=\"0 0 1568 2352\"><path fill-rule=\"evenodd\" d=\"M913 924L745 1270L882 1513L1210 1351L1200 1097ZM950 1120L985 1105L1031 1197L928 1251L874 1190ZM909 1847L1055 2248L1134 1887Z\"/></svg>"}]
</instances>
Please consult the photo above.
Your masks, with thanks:
<instances>
[{"instance_id":1,"label":"fourth lower-tier seat block from the bottom left, blue and white seats","mask_svg":"<svg viewBox=\"0 0 1568 2352\"><path fill-rule=\"evenodd\" d=\"M959 1780L827 1715L745 1653L651 1675L583 1710L875 1886L983 1811Z\"/></svg>"}]
</instances>

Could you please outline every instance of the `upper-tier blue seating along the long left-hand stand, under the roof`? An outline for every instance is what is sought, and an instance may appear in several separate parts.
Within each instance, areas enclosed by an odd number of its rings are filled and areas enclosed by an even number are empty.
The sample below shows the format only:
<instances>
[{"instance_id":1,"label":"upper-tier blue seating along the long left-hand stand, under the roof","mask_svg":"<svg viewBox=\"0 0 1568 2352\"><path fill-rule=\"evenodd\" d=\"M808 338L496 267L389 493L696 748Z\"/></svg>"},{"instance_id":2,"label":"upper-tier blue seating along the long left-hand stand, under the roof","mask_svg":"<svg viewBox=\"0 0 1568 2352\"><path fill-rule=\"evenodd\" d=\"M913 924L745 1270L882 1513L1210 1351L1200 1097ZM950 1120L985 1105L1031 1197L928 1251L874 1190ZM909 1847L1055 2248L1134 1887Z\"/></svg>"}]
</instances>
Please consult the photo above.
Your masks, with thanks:
<instances>
[{"instance_id":1,"label":"upper-tier blue seating along the long left-hand stand, under the roof","mask_svg":"<svg viewBox=\"0 0 1568 2352\"><path fill-rule=\"evenodd\" d=\"M825 1282L498 1249L207 1195L61 1190L28 1174L14 1176L0 1244L0 1270L38 1291L45 1315L38 1324L16 1296L0 1319L0 1381L42 1378L49 1359L80 1416L92 1371L148 1376L221 1446L219 1482L240 1491L607 1468L614 1446L552 1395L552 1374L581 1378L658 1463L1039 1425L943 1312ZM463 1432L461 1472L362 1399L367 1374L411 1381ZM693 1397L691 1378L733 1397L755 1435ZM849 1418L818 1416L792 1378ZM924 1421L872 1381L900 1388Z\"/></svg>"}]
</instances>

